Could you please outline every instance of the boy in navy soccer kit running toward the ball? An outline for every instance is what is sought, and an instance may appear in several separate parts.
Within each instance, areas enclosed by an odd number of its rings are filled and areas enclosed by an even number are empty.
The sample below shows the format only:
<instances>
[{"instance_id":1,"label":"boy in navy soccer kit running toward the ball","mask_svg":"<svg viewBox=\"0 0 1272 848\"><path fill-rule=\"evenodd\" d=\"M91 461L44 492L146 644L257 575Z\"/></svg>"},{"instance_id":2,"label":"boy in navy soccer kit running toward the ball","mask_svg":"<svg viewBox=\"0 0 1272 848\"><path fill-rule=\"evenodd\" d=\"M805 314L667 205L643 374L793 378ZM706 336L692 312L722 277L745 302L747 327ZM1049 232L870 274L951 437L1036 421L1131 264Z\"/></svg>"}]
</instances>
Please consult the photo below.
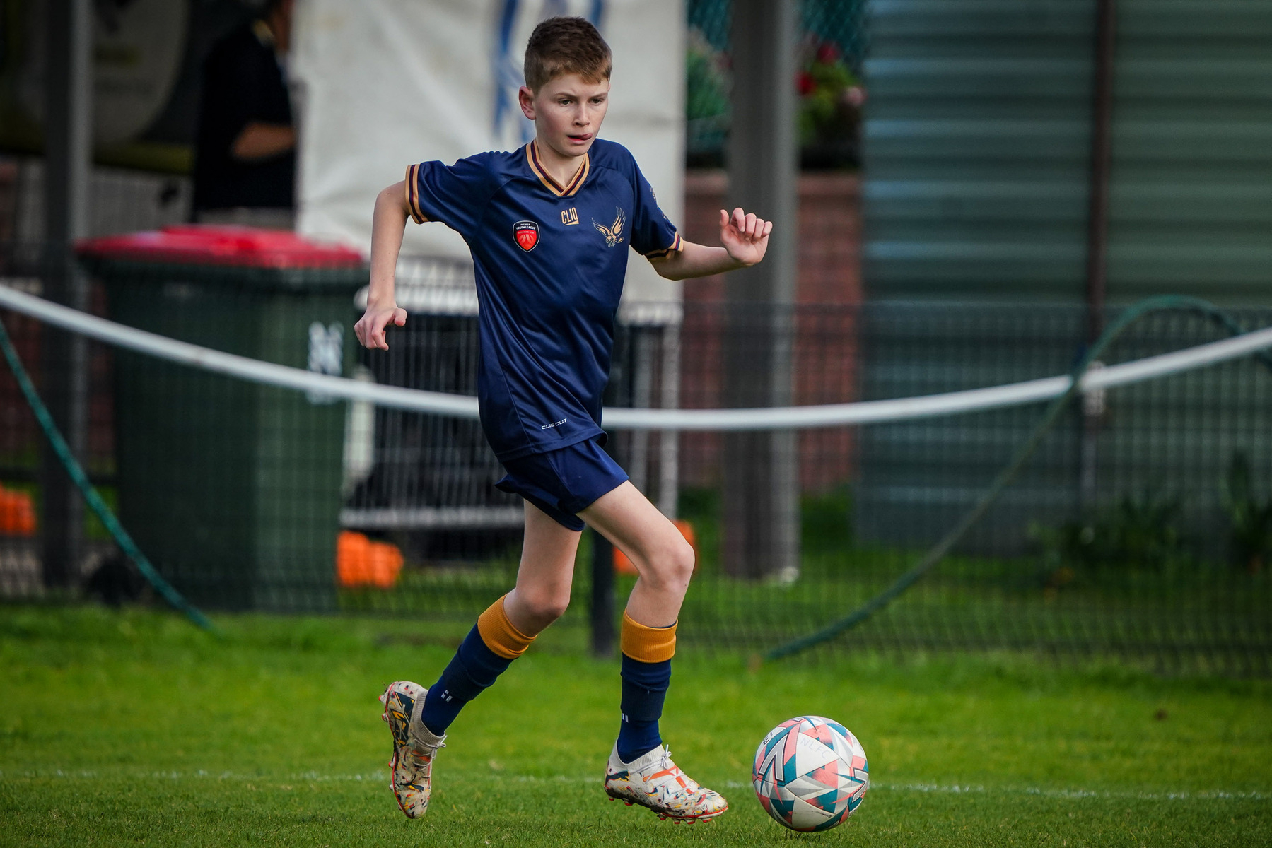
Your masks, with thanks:
<instances>
[{"instance_id":1,"label":"boy in navy soccer kit running toward the ball","mask_svg":"<svg viewBox=\"0 0 1272 848\"><path fill-rule=\"evenodd\" d=\"M393 793L412 819L429 806L432 760L450 722L565 612L584 525L611 539L639 572L623 613L622 720L605 792L681 821L728 809L672 762L659 736L693 549L600 449L600 398L627 248L669 280L701 277L759 262L772 224L721 210L724 247L684 242L632 155L597 139L611 65L609 46L590 23L544 20L527 46L519 95L534 140L450 167L411 165L404 183L375 201L370 294L357 339L388 350L387 327L406 322L393 299L393 271L407 216L463 235L481 304L482 428L508 472L496 486L525 501L516 586L478 617L431 688L398 681L380 695L393 734Z\"/></svg>"}]
</instances>

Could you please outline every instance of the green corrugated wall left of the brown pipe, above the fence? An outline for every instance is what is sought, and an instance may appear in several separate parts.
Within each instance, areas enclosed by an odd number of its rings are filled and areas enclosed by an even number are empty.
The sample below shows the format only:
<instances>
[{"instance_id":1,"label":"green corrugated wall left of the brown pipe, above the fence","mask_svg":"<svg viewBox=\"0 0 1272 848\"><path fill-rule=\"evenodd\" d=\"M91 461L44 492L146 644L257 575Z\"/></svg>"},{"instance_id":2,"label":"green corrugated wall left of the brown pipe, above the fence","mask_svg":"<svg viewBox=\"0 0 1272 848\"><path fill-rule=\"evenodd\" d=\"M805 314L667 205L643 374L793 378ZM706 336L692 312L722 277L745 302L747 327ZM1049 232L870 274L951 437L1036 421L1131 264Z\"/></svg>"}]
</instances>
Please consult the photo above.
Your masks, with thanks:
<instances>
[{"instance_id":1,"label":"green corrugated wall left of the brown pipe, above the fence","mask_svg":"<svg viewBox=\"0 0 1272 848\"><path fill-rule=\"evenodd\" d=\"M876 0L871 299L1081 294L1090 0Z\"/></svg>"}]
</instances>

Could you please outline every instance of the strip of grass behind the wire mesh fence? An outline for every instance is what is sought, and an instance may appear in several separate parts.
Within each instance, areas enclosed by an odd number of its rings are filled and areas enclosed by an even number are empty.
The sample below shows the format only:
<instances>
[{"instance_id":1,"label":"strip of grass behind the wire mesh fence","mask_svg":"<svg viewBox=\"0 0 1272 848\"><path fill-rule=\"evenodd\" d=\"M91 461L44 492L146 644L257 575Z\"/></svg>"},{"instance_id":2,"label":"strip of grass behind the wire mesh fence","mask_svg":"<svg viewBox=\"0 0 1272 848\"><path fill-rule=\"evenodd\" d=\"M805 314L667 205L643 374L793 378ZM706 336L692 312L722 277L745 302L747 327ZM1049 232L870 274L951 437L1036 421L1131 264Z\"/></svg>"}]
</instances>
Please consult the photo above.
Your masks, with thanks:
<instances>
[{"instance_id":1,"label":"strip of grass behind the wire mesh fence","mask_svg":"<svg viewBox=\"0 0 1272 848\"><path fill-rule=\"evenodd\" d=\"M682 645L766 652L868 603L923 553L856 542L851 500L846 489L836 489L803 501L798 580L739 580L720 562L716 492L686 489L681 507L695 528L698 553L681 617ZM408 563L392 590L345 590L340 604L352 614L471 622L513 584L519 553L510 540L506 551L480 563ZM1066 561L1040 553L949 556L855 628L852 638L884 650L1028 646L1067 657L1132 656L1189 674L1272 676L1266 650L1272 643L1272 571L1250 573L1224 559L1175 554L1170 567L1068 563L1058 570ZM588 615L590 563L585 534L567 613L579 626ZM626 598L631 586L631 577L619 577L617 596Z\"/></svg>"}]
</instances>

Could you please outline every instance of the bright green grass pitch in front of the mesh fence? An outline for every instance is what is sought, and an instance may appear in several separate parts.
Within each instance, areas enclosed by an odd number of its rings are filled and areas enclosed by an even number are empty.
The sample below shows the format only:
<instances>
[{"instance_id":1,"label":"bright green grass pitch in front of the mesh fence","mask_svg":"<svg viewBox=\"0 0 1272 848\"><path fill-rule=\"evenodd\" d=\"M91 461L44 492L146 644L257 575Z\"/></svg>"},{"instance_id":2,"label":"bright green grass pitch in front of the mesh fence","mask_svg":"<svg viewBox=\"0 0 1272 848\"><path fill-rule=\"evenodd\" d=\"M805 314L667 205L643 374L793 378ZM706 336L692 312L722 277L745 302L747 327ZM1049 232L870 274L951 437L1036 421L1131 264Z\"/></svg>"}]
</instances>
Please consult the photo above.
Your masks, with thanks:
<instances>
[{"instance_id":1,"label":"bright green grass pitch in front of the mesh fence","mask_svg":"<svg viewBox=\"0 0 1272 848\"><path fill-rule=\"evenodd\" d=\"M426 685L462 631L403 620L0 606L0 844L1263 845L1272 685L1020 656L879 655L750 669L686 653L663 723L719 821L608 804L617 662L550 631L455 722L434 806L387 787L377 695ZM791 834L749 787L761 736L834 717L870 756L843 826Z\"/></svg>"}]
</instances>

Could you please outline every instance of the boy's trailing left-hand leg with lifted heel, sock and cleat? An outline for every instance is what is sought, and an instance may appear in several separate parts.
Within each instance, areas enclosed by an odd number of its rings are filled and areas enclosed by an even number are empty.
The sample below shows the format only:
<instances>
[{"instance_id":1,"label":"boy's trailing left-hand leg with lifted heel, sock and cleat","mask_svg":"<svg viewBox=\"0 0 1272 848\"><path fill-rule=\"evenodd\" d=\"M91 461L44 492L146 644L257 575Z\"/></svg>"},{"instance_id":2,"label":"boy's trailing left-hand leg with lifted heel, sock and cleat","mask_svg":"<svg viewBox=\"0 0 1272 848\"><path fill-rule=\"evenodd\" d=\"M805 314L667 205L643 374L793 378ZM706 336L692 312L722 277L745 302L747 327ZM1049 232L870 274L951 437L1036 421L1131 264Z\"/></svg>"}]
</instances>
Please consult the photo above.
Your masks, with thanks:
<instances>
[{"instance_id":1,"label":"boy's trailing left-hand leg with lifted heel, sock and cleat","mask_svg":"<svg viewBox=\"0 0 1272 848\"><path fill-rule=\"evenodd\" d=\"M429 807L432 758L450 722L565 612L579 537L527 502L516 587L478 617L432 688L398 681L380 695L393 732L391 784L407 816Z\"/></svg>"}]
</instances>

